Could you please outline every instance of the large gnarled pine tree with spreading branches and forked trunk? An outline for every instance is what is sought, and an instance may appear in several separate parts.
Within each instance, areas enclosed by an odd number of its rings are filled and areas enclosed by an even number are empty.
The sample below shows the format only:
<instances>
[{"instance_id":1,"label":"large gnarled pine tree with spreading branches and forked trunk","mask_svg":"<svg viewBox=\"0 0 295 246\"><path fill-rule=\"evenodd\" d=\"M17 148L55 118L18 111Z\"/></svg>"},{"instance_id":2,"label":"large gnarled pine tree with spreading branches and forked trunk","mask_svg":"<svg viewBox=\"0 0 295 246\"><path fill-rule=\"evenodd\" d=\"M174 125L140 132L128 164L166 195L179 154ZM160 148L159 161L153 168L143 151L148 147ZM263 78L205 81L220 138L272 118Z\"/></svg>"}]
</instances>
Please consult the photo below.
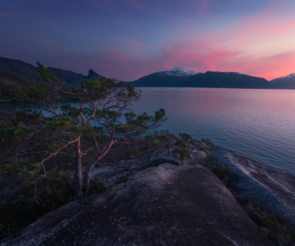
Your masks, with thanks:
<instances>
[{"instance_id":1,"label":"large gnarled pine tree with spreading branches and forked trunk","mask_svg":"<svg viewBox=\"0 0 295 246\"><path fill-rule=\"evenodd\" d=\"M39 121L29 127L15 126L22 138L30 139L22 149L10 148L5 152L5 160L18 159L26 155L37 155L42 167L40 177L46 177L45 163L52 158L75 164L75 200L87 196L92 169L104 157L116 142L130 142L144 133L161 125L165 120L165 110L155 111L154 116L146 113L136 115L130 109L133 102L140 99L141 91L116 79L94 79L82 81L79 89L65 89L61 81L37 62L38 72L43 83L32 85L29 89L16 88L14 99L41 106L51 112L53 117ZM59 105L56 102L75 99L79 107L70 104ZM6 122L6 125L8 122ZM17 134L16 134L17 135ZM24 144L25 142L23 142ZM2 147L5 149L5 143ZM61 158L62 157L62 158ZM82 165L87 165L82 174Z\"/></svg>"}]
</instances>

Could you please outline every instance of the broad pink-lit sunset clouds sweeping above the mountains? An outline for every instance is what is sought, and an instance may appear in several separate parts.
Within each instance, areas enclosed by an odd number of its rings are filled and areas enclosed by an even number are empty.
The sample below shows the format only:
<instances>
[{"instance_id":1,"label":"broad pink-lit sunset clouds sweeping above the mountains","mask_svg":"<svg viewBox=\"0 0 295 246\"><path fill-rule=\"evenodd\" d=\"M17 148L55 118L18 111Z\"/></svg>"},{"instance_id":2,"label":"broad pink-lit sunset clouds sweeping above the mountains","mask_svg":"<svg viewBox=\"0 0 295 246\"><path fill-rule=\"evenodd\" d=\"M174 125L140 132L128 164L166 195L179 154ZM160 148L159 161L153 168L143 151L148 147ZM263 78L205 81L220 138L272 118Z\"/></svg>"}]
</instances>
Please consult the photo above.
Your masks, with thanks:
<instances>
[{"instance_id":1,"label":"broad pink-lit sunset clouds sweeping above the mountains","mask_svg":"<svg viewBox=\"0 0 295 246\"><path fill-rule=\"evenodd\" d=\"M198 10L210 8L211 2L202 1ZM128 4L145 9L134 1L129 1ZM148 45L135 38L119 37L114 46L116 48L104 47L96 54L84 55L79 63L70 61L65 65L68 66L66 69L76 67L80 71L91 68L103 76L125 81L133 81L176 66L195 72L236 71L271 80L295 72L295 31L290 32L295 21L288 18L290 16L278 16L274 8L269 8L219 32L206 34L205 37L200 34L196 34L195 38L186 37L180 35L183 30L175 30L173 42L169 37L160 45ZM269 35L274 38L270 39ZM290 47L286 50L284 47L278 50L276 46L277 43L282 43L281 35L290 37ZM273 42L272 46L269 45L270 41ZM43 42L45 41L42 40ZM81 57L81 54L75 55Z\"/></svg>"}]
</instances>

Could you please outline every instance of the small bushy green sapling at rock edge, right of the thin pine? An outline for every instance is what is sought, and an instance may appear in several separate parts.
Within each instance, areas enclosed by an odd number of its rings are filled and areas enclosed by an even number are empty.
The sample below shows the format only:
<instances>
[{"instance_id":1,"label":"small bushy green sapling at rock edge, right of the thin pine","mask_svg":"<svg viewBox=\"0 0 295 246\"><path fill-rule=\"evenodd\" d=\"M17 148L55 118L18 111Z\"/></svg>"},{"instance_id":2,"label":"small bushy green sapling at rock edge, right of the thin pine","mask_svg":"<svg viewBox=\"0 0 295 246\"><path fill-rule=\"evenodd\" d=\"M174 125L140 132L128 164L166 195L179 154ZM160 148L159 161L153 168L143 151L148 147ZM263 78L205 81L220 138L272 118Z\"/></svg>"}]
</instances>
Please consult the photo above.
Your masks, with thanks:
<instances>
[{"instance_id":1,"label":"small bushy green sapling at rock edge, right of the thin pine","mask_svg":"<svg viewBox=\"0 0 295 246\"><path fill-rule=\"evenodd\" d=\"M177 148L173 149L172 153L178 155L181 161L191 159L191 135L187 133L179 133L179 137L180 138L175 142Z\"/></svg>"}]
</instances>

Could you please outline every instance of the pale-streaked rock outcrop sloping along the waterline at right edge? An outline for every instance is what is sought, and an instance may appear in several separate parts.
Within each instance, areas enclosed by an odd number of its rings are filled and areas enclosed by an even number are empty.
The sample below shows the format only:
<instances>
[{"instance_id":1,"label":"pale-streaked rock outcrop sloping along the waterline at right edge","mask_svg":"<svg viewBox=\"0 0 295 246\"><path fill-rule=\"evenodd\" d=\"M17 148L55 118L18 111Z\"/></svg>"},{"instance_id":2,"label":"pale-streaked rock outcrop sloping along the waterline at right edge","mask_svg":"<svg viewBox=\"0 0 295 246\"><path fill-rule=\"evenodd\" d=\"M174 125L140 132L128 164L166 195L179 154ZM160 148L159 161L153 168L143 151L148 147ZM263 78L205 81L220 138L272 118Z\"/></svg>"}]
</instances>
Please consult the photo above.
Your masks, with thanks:
<instances>
[{"instance_id":1,"label":"pale-streaked rock outcrop sloping along the waterline at right edge","mask_svg":"<svg viewBox=\"0 0 295 246\"><path fill-rule=\"evenodd\" d=\"M294 176L220 147L213 148L209 153L218 162L227 164L237 175L235 186L239 196L275 210L295 224Z\"/></svg>"}]
</instances>

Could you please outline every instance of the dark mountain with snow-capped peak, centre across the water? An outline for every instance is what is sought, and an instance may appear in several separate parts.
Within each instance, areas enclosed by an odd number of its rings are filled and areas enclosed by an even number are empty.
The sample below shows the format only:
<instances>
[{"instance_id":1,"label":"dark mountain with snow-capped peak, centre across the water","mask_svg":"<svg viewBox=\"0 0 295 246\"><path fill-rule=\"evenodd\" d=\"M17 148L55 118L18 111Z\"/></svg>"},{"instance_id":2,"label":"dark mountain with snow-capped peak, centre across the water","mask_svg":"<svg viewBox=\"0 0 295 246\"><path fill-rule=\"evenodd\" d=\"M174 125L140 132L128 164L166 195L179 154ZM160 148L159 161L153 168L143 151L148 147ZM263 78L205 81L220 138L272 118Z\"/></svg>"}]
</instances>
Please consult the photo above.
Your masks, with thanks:
<instances>
[{"instance_id":1,"label":"dark mountain with snow-capped peak, centre across the water","mask_svg":"<svg viewBox=\"0 0 295 246\"><path fill-rule=\"evenodd\" d=\"M141 77L131 82L131 85L136 87L274 88L274 85L264 78L237 72L195 73L179 67Z\"/></svg>"}]
</instances>

